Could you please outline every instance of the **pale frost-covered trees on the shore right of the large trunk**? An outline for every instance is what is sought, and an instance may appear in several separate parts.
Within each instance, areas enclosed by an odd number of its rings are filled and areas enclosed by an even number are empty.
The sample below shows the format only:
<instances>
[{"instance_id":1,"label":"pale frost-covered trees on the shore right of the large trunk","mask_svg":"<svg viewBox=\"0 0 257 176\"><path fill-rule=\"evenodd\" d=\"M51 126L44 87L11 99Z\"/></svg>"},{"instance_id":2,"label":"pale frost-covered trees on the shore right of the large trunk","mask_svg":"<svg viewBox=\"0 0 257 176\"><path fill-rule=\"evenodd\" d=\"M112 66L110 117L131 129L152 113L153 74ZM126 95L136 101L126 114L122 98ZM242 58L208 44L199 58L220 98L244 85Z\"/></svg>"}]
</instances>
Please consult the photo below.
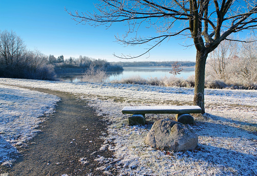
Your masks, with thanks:
<instances>
[{"instance_id":1,"label":"pale frost-covered trees on the shore right of the large trunk","mask_svg":"<svg viewBox=\"0 0 257 176\"><path fill-rule=\"evenodd\" d=\"M256 40L256 37L247 39ZM257 43L224 40L209 55L207 76L228 84L253 84L257 82Z\"/></svg>"}]
</instances>

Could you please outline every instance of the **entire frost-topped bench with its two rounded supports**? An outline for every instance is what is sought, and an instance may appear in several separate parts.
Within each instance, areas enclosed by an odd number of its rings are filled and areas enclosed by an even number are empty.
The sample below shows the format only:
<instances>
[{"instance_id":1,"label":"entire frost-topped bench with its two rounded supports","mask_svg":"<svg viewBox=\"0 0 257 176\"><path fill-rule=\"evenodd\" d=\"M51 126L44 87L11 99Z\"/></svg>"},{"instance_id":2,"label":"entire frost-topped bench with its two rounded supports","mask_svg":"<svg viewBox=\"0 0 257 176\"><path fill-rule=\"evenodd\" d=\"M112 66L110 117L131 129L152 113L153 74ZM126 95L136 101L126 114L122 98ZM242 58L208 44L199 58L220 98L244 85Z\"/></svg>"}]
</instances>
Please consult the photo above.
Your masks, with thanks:
<instances>
[{"instance_id":1,"label":"entire frost-topped bench with its two rounded supports","mask_svg":"<svg viewBox=\"0 0 257 176\"><path fill-rule=\"evenodd\" d=\"M176 121L193 125L194 119L190 114L201 113L199 106L125 106L123 114L132 114L128 118L129 125L145 125L146 114L176 114Z\"/></svg>"}]
</instances>

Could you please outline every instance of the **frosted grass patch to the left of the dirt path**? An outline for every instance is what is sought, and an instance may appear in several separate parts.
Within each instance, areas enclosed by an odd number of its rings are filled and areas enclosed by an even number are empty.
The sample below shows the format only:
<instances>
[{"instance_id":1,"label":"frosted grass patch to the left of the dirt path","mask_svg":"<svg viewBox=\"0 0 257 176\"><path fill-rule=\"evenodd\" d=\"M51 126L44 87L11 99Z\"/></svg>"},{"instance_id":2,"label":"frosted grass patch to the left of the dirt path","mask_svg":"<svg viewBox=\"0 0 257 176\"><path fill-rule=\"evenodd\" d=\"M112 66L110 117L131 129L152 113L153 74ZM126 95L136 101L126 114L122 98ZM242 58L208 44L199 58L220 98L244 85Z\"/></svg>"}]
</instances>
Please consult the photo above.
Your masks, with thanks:
<instances>
[{"instance_id":1,"label":"frosted grass patch to the left of the dirt path","mask_svg":"<svg viewBox=\"0 0 257 176\"><path fill-rule=\"evenodd\" d=\"M54 112L56 96L0 84L0 164L9 166L17 157L15 146L31 139L43 115Z\"/></svg>"}]
</instances>

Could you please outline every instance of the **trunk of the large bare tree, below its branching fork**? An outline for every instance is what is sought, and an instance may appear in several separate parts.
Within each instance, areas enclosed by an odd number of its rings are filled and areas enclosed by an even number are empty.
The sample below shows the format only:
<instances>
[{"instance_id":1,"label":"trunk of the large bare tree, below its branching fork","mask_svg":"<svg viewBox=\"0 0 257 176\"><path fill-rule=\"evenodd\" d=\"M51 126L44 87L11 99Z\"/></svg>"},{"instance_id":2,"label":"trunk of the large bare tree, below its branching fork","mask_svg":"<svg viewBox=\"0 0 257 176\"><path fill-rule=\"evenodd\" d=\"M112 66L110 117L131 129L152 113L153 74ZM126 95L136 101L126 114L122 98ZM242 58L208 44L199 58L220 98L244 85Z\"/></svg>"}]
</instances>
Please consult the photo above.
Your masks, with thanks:
<instances>
[{"instance_id":1,"label":"trunk of the large bare tree, below its branching fork","mask_svg":"<svg viewBox=\"0 0 257 176\"><path fill-rule=\"evenodd\" d=\"M205 113L204 109L204 81L205 81L205 63L208 54L202 51L196 52L195 63L195 86L194 86L194 101L193 104L202 108L202 114Z\"/></svg>"}]
</instances>

